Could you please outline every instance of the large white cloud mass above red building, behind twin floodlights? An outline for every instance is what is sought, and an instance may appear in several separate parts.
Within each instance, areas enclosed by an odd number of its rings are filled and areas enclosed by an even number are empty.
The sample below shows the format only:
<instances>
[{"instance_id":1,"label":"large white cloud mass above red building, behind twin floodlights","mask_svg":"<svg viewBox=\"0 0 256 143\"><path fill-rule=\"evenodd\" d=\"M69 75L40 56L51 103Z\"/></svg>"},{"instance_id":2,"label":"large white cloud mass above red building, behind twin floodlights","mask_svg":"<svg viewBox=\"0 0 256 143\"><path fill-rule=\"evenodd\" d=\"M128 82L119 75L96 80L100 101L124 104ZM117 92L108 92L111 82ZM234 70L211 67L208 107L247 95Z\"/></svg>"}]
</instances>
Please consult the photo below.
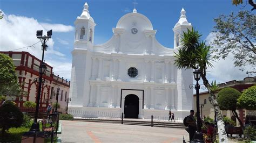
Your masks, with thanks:
<instances>
[{"instance_id":1,"label":"large white cloud mass above red building, behind twin floodlights","mask_svg":"<svg viewBox=\"0 0 256 143\"><path fill-rule=\"evenodd\" d=\"M41 59L42 44L41 42L38 42L39 39L36 38L36 31L43 30L46 33L49 29L45 28L45 25L48 27L51 27L52 25L52 29L59 26L60 28L55 29L58 32L69 32L72 30L72 26L45 23L43 26L34 18L4 15L4 18L0 20L0 51L13 51L14 49L17 49L15 51L26 51L36 56L38 59ZM63 28L66 28L66 30L63 30ZM66 58L65 54L58 52L53 48L53 45L55 44L53 39L49 39L46 44L48 45L48 50L45 52L45 62L53 67L56 74L70 79L71 63L62 62ZM62 71L63 69L65 71Z\"/></svg>"}]
</instances>

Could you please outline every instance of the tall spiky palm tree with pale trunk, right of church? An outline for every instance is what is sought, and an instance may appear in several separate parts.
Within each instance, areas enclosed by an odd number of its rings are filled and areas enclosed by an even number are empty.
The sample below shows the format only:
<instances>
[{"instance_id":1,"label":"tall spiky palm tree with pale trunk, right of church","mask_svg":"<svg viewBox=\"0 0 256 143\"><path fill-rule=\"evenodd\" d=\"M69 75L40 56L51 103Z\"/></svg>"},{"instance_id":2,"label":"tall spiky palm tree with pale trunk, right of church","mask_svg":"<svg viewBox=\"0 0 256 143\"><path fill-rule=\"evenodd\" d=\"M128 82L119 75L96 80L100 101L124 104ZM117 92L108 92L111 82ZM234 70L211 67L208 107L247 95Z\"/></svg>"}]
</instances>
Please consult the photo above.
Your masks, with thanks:
<instances>
[{"instance_id":1,"label":"tall spiky palm tree with pale trunk, right of church","mask_svg":"<svg viewBox=\"0 0 256 143\"><path fill-rule=\"evenodd\" d=\"M210 93L213 107L216 112L219 141L227 142L223 117L220 113L220 108L215 96L216 87L214 87L213 84L211 85L206 78L206 69L208 67L213 67L213 60L210 55L211 47L207 46L205 41L200 41L200 37L201 34L194 30L194 28L192 28L192 30L187 30L187 32L183 32L183 37L181 38L182 47L178 50L178 53L174 52L176 54L174 56L176 58L174 64L181 69L199 69L201 71L203 83Z\"/></svg>"}]
</instances>

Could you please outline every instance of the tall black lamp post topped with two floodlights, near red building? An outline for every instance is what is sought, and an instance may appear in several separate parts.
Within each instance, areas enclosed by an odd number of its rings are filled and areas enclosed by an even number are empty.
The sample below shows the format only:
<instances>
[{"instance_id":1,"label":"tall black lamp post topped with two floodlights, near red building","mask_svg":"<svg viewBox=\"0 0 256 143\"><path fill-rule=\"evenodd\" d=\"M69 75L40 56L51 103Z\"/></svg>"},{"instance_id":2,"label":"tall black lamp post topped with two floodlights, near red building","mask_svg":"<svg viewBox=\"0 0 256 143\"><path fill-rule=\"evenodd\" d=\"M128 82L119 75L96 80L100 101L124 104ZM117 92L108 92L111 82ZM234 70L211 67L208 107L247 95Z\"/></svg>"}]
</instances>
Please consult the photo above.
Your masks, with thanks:
<instances>
[{"instance_id":1,"label":"tall black lamp post topped with two floodlights, near red building","mask_svg":"<svg viewBox=\"0 0 256 143\"><path fill-rule=\"evenodd\" d=\"M37 96L36 96L36 113L35 113L35 119L33 124L31 125L31 128L29 130L29 132L25 132L23 134L23 136L31 136L33 135L33 142L36 142L36 137L39 137L39 134L43 134L42 132L40 132L39 130L39 123L37 122L37 118L38 118L38 110L39 110L39 102L40 102L40 95L41 95L41 88L42 88L42 81L43 81L43 74L45 74L45 71L47 69L45 63L44 63L44 51L47 50L47 45L45 44L46 41L48 41L51 38L52 35L52 30L47 32L47 36L44 35L43 36L43 30L38 30L36 32L36 36L38 39L40 39L41 43L42 43L42 60L39 66L39 78L35 79L34 81L38 81L38 89L37 89Z\"/></svg>"}]
</instances>

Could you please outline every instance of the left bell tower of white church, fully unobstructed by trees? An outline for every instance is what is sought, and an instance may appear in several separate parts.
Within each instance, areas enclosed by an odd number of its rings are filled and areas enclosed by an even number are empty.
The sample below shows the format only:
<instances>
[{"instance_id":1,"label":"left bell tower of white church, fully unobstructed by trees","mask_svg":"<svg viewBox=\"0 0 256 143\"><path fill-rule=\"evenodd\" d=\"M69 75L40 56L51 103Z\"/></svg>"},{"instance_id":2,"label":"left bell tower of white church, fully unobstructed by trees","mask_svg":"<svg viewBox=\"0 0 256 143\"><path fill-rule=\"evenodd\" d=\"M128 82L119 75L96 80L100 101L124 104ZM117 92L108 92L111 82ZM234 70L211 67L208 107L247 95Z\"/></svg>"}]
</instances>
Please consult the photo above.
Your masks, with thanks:
<instances>
[{"instance_id":1,"label":"left bell tower of white church, fully unobstructed by trees","mask_svg":"<svg viewBox=\"0 0 256 143\"><path fill-rule=\"evenodd\" d=\"M96 24L90 16L87 3L84 4L83 12L74 24L76 27L74 48L92 49Z\"/></svg>"}]
</instances>

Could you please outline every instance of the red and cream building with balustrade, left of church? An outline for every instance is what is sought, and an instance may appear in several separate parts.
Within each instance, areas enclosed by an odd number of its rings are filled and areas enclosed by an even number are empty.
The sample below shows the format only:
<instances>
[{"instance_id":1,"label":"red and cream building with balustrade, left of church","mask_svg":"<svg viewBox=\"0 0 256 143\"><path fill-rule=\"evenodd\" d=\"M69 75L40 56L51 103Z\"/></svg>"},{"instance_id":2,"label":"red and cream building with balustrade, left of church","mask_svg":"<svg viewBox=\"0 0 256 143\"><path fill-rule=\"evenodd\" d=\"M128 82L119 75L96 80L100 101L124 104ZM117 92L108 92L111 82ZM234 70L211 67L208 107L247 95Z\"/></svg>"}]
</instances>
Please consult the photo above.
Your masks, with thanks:
<instances>
[{"instance_id":1,"label":"red and cream building with balustrade, left of church","mask_svg":"<svg viewBox=\"0 0 256 143\"><path fill-rule=\"evenodd\" d=\"M38 68L41 60L31 55L28 52L0 52L8 55L14 61L16 66L16 74L18 82L22 85L22 90L26 92L19 98L14 99L17 105L23 109L23 103L26 101L36 102L36 95L38 90L38 82L35 78L39 77ZM58 103L60 104L60 112L65 112L67 103L66 98L69 98L70 81L56 76L52 72L52 67L47 63L46 73L43 75L42 90L40 97L39 110L45 111L48 104L56 103L56 89L60 88Z\"/></svg>"}]
</instances>

